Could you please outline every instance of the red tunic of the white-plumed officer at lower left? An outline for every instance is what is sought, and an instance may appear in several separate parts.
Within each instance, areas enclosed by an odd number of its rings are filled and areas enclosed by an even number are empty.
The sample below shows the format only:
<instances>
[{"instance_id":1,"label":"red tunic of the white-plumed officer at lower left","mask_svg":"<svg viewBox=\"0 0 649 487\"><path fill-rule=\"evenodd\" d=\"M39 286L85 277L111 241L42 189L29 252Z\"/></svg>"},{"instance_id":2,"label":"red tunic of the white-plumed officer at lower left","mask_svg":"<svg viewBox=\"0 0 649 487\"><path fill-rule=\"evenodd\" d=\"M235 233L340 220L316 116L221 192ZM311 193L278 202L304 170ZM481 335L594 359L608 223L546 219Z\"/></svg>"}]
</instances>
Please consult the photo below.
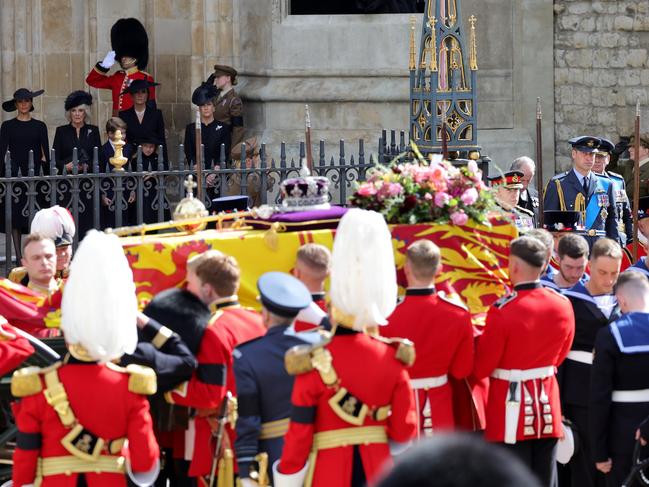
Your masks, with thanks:
<instances>
[{"instance_id":1,"label":"red tunic of the white-plumed officer at lower left","mask_svg":"<svg viewBox=\"0 0 649 487\"><path fill-rule=\"evenodd\" d=\"M66 360L67 363L57 370L58 377L79 424L106 440L107 444L108 440L126 438L132 471L153 470L160 452L153 434L149 401L145 396L131 392L131 375L117 366L80 362L72 358ZM40 380L43 391L23 397L14 408L18 437L13 457L13 483L17 487L34 483L39 458L43 462L54 457L77 459L61 444L71 429L63 426L57 412L47 403L44 395L47 385L42 376ZM12 390L13 387L12 382ZM119 455L107 450L108 446L105 446L100 459L108 460L111 455L112 458ZM75 487L79 475L46 475L41 486ZM89 487L127 485L123 473L93 471L84 475Z\"/></svg>"}]
</instances>

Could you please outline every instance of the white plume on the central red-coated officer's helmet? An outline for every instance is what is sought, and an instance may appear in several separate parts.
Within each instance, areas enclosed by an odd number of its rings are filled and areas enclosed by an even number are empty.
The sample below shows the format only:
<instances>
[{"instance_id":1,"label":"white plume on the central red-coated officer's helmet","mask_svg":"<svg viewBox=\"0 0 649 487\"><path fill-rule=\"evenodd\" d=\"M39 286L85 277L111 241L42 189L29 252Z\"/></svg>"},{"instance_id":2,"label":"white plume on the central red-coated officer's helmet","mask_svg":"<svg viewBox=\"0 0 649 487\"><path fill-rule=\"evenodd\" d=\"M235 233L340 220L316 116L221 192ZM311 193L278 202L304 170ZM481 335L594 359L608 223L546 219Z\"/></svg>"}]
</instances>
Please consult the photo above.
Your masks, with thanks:
<instances>
[{"instance_id":1,"label":"white plume on the central red-coated officer's helmet","mask_svg":"<svg viewBox=\"0 0 649 487\"><path fill-rule=\"evenodd\" d=\"M354 208L340 220L330 295L333 319L348 321L340 324L362 330L387 323L397 304L397 273L392 236L380 214Z\"/></svg>"}]
</instances>

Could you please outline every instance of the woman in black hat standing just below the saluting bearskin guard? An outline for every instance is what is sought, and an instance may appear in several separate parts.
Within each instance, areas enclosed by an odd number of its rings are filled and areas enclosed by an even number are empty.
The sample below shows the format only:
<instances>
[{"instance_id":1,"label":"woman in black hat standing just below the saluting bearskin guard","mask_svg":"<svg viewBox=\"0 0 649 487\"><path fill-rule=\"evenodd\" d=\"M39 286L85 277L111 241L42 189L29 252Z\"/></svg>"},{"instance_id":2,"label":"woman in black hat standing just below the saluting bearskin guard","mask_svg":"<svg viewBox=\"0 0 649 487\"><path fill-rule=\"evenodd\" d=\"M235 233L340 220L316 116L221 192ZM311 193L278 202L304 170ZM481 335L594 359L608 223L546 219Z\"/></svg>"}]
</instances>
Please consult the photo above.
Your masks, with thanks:
<instances>
[{"instance_id":1,"label":"woman in black hat standing just below the saluting bearskin guard","mask_svg":"<svg viewBox=\"0 0 649 487\"><path fill-rule=\"evenodd\" d=\"M159 86L159 84L144 79L132 81L123 93L131 94L133 106L128 110L119 112L119 118L126 122L127 142L133 144L136 140L152 134L162 144L164 160L167 161L167 142L162 112L147 103L149 100L149 88ZM137 145L134 149L137 149ZM136 151L134 150L134 152Z\"/></svg>"}]
</instances>

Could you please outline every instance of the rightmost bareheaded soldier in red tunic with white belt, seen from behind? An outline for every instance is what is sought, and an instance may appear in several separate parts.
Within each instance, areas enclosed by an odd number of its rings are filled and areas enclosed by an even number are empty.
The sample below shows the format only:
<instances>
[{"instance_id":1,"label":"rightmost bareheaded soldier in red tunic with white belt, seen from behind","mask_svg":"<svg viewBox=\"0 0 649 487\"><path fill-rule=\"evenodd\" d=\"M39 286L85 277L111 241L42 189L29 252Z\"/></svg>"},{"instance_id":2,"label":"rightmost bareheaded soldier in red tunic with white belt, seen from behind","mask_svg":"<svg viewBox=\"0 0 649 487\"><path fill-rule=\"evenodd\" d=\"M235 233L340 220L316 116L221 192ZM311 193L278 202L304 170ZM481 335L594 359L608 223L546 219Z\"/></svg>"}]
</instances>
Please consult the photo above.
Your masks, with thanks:
<instances>
[{"instance_id":1,"label":"rightmost bareheaded soldier in red tunic with white belt, seen from behind","mask_svg":"<svg viewBox=\"0 0 649 487\"><path fill-rule=\"evenodd\" d=\"M504 443L551 486L557 439L562 437L555 373L570 350L575 320L570 301L539 282L546 252L535 238L511 243L514 291L489 309L476 345L474 374L491 377L485 438Z\"/></svg>"}]
</instances>

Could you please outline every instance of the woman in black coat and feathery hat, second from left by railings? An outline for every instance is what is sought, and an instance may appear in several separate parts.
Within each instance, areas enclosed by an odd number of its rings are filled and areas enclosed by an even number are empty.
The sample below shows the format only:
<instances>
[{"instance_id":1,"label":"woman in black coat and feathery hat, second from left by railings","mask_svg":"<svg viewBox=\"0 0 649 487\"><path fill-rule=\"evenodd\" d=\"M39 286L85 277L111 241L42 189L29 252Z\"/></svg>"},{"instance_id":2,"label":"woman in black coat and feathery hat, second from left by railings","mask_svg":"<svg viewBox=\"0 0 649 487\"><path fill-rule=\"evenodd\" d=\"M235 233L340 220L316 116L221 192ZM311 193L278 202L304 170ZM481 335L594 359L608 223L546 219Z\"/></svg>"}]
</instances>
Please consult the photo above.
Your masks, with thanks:
<instances>
[{"instance_id":1,"label":"woman in black coat and feathery hat, second from left by railings","mask_svg":"<svg viewBox=\"0 0 649 487\"><path fill-rule=\"evenodd\" d=\"M101 137L99 128L87 123L90 120L90 106L92 105L92 95L85 91L74 91L65 99L65 117L70 121L67 125L61 125L56 128L54 134L54 157L59 174L72 174L73 151L77 149L79 174L92 172L93 169L93 151L94 148L101 147ZM79 231L79 240L83 239L88 230L93 228L93 192L92 187L88 184L87 179L79 179L79 216L77 229ZM72 184L70 181L64 181L59 185L63 193L62 201L57 202L61 206L66 206L74 215L72 208ZM97 221L99 228L99 221Z\"/></svg>"}]
</instances>

